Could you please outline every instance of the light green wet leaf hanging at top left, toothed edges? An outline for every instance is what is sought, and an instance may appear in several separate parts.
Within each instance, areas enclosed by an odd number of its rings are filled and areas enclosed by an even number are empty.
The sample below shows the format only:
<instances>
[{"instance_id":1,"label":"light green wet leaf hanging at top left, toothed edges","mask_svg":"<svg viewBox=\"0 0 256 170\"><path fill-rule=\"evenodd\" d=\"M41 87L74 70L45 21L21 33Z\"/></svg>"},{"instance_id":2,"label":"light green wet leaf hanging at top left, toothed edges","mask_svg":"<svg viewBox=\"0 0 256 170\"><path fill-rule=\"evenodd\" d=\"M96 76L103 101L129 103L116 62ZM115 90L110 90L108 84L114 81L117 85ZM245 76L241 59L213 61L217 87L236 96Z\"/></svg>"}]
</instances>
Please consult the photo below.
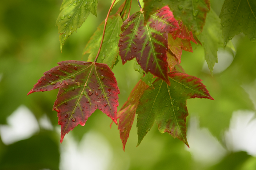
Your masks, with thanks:
<instances>
[{"instance_id":1,"label":"light green wet leaf hanging at top left, toothed edges","mask_svg":"<svg viewBox=\"0 0 256 170\"><path fill-rule=\"evenodd\" d=\"M60 33L60 50L65 40L81 27L90 12L97 16L98 0L63 0L56 20Z\"/></svg>"}]
</instances>

